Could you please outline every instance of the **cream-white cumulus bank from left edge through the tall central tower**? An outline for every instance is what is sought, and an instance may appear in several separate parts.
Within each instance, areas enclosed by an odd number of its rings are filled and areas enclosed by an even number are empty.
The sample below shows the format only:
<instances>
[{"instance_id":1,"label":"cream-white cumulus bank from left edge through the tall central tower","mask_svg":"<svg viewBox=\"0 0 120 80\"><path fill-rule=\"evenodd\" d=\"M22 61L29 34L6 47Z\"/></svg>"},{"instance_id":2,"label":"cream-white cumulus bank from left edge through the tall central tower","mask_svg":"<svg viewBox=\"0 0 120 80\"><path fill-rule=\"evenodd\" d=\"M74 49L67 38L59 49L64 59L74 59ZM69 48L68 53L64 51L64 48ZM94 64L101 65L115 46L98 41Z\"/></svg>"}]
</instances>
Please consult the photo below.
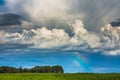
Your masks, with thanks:
<instances>
[{"instance_id":1,"label":"cream-white cumulus bank from left edge through the tall central tower","mask_svg":"<svg viewBox=\"0 0 120 80\"><path fill-rule=\"evenodd\" d=\"M78 46L89 46L97 48L100 46L100 39L97 35L87 31L81 20L70 22L73 36L69 36L63 29L49 30L46 27L23 30L22 33L7 33L1 31L1 43L33 44L31 48L39 49L79 49ZM71 32L71 33L72 33ZM62 48L64 47L64 48Z\"/></svg>"}]
</instances>

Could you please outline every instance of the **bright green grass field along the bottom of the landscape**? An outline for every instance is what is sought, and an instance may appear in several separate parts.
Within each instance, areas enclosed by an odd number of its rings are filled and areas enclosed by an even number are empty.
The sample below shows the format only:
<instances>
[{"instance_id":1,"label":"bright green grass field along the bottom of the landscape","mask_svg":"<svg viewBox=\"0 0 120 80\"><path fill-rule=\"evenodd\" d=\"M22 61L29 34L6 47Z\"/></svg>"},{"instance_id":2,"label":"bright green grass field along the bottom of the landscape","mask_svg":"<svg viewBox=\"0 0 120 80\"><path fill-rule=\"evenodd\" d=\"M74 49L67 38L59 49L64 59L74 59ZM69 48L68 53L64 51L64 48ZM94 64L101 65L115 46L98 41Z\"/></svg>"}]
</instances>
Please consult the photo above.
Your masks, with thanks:
<instances>
[{"instance_id":1,"label":"bright green grass field along the bottom of the landscape","mask_svg":"<svg viewBox=\"0 0 120 80\"><path fill-rule=\"evenodd\" d=\"M0 80L120 80L120 74L0 74Z\"/></svg>"}]
</instances>

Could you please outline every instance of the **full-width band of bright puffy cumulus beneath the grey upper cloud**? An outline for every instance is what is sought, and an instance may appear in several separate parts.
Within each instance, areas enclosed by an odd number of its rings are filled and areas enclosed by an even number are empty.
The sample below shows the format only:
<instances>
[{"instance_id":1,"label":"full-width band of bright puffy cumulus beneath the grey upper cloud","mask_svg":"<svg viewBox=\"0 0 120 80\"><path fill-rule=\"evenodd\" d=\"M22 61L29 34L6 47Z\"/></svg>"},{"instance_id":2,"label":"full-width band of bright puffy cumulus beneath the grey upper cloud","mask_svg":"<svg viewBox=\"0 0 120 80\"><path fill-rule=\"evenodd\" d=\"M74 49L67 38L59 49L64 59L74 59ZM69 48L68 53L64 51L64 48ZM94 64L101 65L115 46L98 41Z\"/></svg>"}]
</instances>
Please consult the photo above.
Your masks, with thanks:
<instances>
[{"instance_id":1,"label":"full-width band of bright puffy cumulus beneath the grey upper cloud","mask_svg":"<svg viewBox=\"0 0 120 80\"><path fill-rule=\"evenodd\" d=\"M73 36L69 36L64 29L53 28L50 30L46 27L23 30L22 33L8 33L2 30L0 31L0 43L27 44L28 48L37 49L91 50L102 51L107 55L119 54L119 26L113 27L107 24L101 28L101 35L88 31L79 19L69 22L69 26L71 33L74 33Z\"/></svg>"}]
</instances>

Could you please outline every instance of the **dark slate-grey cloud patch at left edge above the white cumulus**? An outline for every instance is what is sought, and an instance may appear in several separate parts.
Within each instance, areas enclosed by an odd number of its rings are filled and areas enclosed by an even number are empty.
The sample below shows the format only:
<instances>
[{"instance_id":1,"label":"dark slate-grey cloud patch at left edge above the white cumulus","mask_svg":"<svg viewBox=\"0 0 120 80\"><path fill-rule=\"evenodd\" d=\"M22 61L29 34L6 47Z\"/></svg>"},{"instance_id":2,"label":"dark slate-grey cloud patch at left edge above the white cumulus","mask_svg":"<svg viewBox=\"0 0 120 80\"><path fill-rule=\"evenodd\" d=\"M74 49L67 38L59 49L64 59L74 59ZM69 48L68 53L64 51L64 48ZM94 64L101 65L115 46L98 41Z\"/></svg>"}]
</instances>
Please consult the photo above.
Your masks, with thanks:
<instances>
[{"instance_id":1,"label":"dark slate-grey cloud patch at left edge above the white cumulus","mask_svg":"<svg viewBox=\"0 0 120 80\"><path fill-rule=\"evenodd\" d=\"M0 30L10 33L21 33L23 29L30 29L31 27L35 28L35 26L32 25L32 22L27 21L24 17L18 14L0 13Z\"/></svg>"}]
</instances>

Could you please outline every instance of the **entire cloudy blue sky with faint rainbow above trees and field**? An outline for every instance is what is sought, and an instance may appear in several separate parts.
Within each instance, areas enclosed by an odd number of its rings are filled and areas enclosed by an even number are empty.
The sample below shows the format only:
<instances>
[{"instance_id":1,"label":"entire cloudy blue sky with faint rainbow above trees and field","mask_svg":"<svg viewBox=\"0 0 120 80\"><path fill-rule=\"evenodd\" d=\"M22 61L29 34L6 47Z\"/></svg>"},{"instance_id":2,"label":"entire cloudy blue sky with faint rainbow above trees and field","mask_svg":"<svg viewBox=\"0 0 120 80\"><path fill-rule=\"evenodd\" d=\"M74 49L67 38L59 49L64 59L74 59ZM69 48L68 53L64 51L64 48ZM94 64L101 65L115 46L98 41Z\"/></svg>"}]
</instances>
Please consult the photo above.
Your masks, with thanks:
<instances>
[{"instance_id":1,"label":"entire cloudy blue sky with faint rainbow above trees and field","mask_svg":"<svg viewBox=\"0 0 120 80\"><path fill-rule=\"evenodd\" d=\"M119 0L0 0L0 66L120 72Z\"/></svg>"}]
</instances>

